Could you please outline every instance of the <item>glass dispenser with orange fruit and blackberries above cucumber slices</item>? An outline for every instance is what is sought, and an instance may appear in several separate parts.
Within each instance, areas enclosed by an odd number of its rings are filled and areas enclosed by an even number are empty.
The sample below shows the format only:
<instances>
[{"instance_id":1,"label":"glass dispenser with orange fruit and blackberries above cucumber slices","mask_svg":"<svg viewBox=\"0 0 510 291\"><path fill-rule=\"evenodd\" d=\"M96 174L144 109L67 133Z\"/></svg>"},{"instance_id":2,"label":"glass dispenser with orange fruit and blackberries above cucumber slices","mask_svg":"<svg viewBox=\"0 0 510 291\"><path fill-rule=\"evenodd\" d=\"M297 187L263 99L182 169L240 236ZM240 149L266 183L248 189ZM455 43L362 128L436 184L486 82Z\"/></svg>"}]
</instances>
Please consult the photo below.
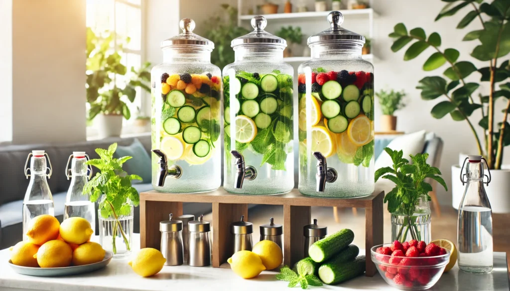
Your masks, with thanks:
<instances>
[{"instance_id":1,"label":"glass dispenser with orange fruit and blackberries above cucumber slices","mask_svg":"<svg viewBox=\"0 0 510 291\"><path fill-rule=\"evenodd\" d=\"M163 63L152 68L152 186L197 193L221 184L221 71L211 64L214 43L192 33L161 43Z\"/></svg>"}]
</instances>

